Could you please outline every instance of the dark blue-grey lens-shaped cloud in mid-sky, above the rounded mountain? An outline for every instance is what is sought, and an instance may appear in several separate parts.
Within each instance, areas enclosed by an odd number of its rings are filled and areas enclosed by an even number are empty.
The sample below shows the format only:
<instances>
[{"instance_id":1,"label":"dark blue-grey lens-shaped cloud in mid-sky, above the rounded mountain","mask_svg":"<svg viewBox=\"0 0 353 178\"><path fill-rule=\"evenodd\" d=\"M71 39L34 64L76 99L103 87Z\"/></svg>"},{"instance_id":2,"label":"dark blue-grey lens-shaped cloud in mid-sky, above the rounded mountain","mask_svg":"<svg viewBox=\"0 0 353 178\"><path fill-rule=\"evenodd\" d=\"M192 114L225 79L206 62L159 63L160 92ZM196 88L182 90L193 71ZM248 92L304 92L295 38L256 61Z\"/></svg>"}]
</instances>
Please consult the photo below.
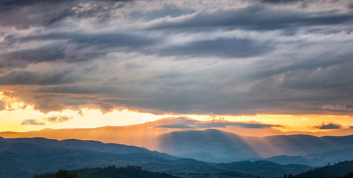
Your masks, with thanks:
<instances>
[{"instance_id":1,"label":"dark blue-grey lens-shaped cloud in mid-sky, above the rounded mountain","mask_svg":"<svg viewBox=\"0 0 353 178\"><path fill-rule=\"evenodd\" d=\"M270 44L260 44L248 39L216 39L191 42L185 45L160 49L162 55L180 55L191 57L251 57L270 52Z\"/></svg>"}]
</instances>

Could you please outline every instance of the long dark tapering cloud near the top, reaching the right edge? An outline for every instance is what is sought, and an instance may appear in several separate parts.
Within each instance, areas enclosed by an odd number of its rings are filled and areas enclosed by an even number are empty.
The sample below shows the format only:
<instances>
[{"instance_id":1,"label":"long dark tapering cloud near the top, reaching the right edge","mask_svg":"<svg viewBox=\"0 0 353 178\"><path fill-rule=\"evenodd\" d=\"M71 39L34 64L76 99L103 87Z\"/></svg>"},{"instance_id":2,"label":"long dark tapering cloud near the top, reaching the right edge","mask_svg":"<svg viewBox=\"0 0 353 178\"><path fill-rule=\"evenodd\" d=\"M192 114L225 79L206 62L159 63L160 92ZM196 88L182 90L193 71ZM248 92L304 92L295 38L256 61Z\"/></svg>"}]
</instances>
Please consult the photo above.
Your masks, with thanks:
<instances>
[{"instance_id":1,"label":"long dark tapering cloud near the top, reaching the right edge","mask_svg":"<svg viewBox=\"0 0 353 178\"><path fill-rule=\"evenodd\" d=\"M263 6L249 6L237 10L197 13L181 20L162 21L150 29L178 28L241 28L246 30L278 30L316 25L337 25L353 19L353 14L299 13L270 10Z\"/></svg>"}]
</instances>

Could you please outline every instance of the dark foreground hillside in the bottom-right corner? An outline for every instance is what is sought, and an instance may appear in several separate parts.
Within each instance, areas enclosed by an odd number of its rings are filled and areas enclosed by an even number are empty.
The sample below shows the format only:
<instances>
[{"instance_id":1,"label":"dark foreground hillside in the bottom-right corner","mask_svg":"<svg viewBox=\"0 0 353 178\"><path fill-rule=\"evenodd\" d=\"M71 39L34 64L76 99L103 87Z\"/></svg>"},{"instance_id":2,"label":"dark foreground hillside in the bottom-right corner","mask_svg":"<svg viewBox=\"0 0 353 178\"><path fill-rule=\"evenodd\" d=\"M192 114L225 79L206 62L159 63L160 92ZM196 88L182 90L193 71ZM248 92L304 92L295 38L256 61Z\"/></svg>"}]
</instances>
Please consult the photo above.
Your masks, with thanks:
<instances>
[{"instance_id":1,"label":"dark foreground hillside in the bottom-right corner","mask_svg":"<svg viewBox=\"0 0 353 178\"><path fill-rule=\"evenodd\" d=\"M339 162L332 166L325 166L315 170L309 170L294 178L352 178L353 177L353 161Z\"/></svg>"}]
</instances>

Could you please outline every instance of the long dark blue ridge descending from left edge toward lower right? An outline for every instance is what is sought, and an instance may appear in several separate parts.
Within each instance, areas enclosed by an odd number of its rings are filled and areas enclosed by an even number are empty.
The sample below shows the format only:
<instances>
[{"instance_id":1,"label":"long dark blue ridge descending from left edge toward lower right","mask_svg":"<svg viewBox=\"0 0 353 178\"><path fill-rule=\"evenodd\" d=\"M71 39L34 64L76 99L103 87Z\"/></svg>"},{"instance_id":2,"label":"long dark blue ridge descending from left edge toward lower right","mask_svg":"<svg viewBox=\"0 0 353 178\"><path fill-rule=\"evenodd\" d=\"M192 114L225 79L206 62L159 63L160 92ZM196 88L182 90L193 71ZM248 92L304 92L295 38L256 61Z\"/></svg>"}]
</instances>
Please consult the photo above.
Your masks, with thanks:
<instances>
[{"instance_id":1,"label":"long dark blue ridge descending from left edge toward lower right","mask_svg":"<svg viewBox=\"0 0 353 178\"><path fill-rule=\"evenodd\" d=\"M165 172L179 177L275 177L310 170L305 165L279 165L269 161L210 163L178 158L145 148L97 141L46 138L0 138L1 177L33 177L56 170L83 167L124 167Z\"/></svg>"}]
</instances>

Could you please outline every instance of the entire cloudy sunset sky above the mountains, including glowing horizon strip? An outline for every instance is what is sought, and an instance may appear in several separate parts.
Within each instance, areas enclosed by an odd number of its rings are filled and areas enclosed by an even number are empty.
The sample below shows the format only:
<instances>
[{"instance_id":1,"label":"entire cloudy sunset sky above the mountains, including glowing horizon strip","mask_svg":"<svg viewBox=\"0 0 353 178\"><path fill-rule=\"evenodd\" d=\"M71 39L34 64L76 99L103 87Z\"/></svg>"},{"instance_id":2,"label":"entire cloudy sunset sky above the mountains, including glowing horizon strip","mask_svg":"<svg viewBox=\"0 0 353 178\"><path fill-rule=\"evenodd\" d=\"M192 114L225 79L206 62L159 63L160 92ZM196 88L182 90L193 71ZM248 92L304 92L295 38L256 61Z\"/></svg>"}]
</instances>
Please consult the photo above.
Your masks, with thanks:
<instances>
[{"instance_id":1,"label":"entire cloudy sunset sky above the mountains, including glowing horizon strip","mask_svg":"<svg viewBox=\"0 0 353 178\"><path fill-rule=\"evenodd\" d=\"M349 128L352 30L349 0L2 0L0 131L171 116Z\"/></svg>"}]
</instances>

